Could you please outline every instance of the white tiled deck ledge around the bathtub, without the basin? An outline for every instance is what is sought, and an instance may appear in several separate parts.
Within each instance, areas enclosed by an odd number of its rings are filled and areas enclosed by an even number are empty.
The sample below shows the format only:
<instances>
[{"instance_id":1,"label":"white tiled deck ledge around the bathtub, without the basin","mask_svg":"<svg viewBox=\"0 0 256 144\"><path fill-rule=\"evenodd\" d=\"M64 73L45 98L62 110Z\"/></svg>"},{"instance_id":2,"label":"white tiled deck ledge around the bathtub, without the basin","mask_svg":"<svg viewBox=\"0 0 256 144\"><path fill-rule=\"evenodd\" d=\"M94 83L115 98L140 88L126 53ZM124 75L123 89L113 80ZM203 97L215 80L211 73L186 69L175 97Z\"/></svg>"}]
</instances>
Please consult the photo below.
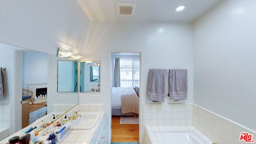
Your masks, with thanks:
<instances>
[{"instance_id":1,"label":"white tiled deck ledge around the bathtub, without the basin","mask_svg":"<svg viewBox=\"0 0 256 144\"><path fill-rule=\"evenodd\" d=\"M144 144L158 144L155 132L193 132L206 144L212 144L212 141L194 128L194 126L146 126L145 130Z\"/></svg>"}]
</instances>

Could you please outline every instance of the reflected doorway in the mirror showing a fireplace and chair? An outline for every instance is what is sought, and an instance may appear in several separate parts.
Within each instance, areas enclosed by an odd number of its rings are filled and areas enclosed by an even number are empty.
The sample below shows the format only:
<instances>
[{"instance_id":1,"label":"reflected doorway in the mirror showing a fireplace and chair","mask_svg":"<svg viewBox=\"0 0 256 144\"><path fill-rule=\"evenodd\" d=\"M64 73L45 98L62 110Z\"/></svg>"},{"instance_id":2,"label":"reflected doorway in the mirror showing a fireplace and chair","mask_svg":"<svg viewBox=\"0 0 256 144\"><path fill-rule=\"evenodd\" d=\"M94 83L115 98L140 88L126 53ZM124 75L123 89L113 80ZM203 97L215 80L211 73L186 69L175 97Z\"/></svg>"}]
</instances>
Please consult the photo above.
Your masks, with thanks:
<instances>
[{"instance_id":1,"label":"reflected doorway in the mirror showing a fireplace and chair","mask_svg":"<svg viewBox=\"0 0 256 144\"><path fill-rule=\"evenodd\" d=\"M22 94L32 94L32 102L22 102L22 128L47 113L48 59L42 52L22 52Z\"/></svg>"}]
</instances>

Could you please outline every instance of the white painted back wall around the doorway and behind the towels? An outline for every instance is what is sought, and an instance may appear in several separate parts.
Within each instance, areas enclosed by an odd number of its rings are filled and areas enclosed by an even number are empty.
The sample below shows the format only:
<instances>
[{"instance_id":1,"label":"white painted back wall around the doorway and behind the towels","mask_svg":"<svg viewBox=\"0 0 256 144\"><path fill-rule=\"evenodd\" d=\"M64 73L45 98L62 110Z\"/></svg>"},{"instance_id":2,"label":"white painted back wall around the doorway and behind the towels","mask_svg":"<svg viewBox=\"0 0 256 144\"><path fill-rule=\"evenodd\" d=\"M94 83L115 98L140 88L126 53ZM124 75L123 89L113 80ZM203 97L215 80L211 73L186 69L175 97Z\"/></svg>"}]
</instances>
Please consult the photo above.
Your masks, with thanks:
<instances>
[{"instance_id":1,"label":"white painted back wall around the doorway and behind the towels","mask_svg":"<svg viewBox=\"0 0 256 144\"><path fill-rule=\"evenodd\" d=\"M169 22L112 22L91 20L81 60L100 60L100 93L80 93L80 104L104 104L110 112L110 52L142 52L140 110L146 97L149 68L187 68L188 100L193 102L193 29L191 24ZM99 101L90 101L98 95ZM166 103L174 102L166 100ZM140 112L141 113L141 112ZM108 116L108 122L111 117ZM110 123L108 123L110 130ZM142 127L140 127L142 130ZM110 134L111 131L108 131ZM140 138L142 133L140 132ZM109 138L110 140L110 138Z\"/></svg>"}]
</instances>

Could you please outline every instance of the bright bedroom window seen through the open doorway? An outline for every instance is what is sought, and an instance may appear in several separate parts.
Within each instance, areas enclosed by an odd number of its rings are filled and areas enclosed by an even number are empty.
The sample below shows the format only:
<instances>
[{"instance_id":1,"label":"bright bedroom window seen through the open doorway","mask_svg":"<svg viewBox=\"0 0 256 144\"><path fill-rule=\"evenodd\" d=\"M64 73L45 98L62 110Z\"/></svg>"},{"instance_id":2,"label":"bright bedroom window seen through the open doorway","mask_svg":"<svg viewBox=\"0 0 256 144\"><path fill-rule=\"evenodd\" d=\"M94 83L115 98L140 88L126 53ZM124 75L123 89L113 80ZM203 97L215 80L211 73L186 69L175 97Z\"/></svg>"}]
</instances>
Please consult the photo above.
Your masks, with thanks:
<instances>
[{"instance_id":1,"label":"bright bedroom window seen through the open doorway","mask_svg":"<svg viewBox=\"0 0 256 144\"><path fill-rule=\"evenodd\" d=\"M120 58L120 86L140 86L140 60Z\"/></svg>"}]
</instances>

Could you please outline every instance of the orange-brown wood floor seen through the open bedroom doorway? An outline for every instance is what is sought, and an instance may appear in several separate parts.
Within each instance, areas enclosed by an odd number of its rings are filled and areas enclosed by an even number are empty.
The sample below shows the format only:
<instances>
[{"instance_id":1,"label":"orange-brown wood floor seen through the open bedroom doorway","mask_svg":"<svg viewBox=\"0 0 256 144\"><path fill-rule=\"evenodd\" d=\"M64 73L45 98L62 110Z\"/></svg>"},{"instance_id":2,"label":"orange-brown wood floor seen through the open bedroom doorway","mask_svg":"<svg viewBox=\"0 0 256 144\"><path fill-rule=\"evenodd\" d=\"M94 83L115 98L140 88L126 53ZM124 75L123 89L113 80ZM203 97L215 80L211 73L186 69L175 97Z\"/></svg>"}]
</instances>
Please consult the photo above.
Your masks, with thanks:
<instances>
[{"instance_id":1,"label":"orange-brown wood floor seen through the open bedroom doorway","mask_svg":"<svg viewBox=\"0 0 256 144\"><path fill-rule=\"evenodd\" d=\"M139 124L120 124L120 116L112 116L111 142L138 142Z\"/></svg>"}]
</instances>

